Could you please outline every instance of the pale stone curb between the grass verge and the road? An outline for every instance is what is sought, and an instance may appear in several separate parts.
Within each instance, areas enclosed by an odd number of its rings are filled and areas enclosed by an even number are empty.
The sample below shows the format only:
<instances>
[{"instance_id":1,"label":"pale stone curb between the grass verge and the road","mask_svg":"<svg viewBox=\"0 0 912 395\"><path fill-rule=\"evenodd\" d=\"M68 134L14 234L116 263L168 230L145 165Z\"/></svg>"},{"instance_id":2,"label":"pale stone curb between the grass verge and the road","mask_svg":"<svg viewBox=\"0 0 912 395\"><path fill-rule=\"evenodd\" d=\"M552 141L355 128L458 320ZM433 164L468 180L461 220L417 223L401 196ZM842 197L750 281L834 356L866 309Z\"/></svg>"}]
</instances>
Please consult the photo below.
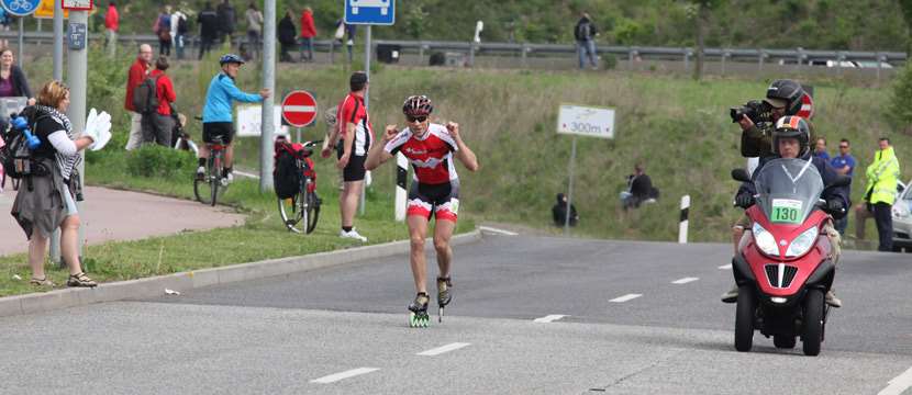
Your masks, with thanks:
<instances>
[{"instance_id":1,"label":"pale stone curb between the grass verge and the road","mask_svg":"<svg viewBox=\"0 0 912 395\"><path fill-rule=\"evenodd\" d=\"M456 235L452 246L481 240L481 230ZM223 268L211 268L159 275L148 279L101 283L93 289L65 289L0 297L0 317L42 313L59 308L85 306L93 303L137 300L162 296L165 289L178 292L198 287L229 284L238 281L263 279L294 272L342 266L370 258L382 258L408 252L409 240L392 241L336 251L319 252L302 257L270 259Z\"/></svg>"}]
</instances>

